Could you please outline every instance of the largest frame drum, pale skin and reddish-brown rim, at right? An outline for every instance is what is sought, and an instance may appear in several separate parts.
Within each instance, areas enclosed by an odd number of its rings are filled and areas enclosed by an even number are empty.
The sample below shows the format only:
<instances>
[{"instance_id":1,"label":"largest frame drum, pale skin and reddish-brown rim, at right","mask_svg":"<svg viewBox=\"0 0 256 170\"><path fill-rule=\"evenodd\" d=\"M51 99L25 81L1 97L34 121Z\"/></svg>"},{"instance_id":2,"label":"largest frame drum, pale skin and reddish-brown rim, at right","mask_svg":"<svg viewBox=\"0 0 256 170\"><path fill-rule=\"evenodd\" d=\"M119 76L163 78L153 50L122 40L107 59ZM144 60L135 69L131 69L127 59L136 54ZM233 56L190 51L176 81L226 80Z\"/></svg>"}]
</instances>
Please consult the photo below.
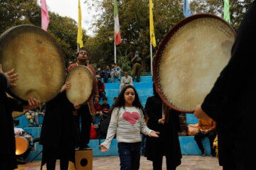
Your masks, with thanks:
<instances>
[{"instance_id":1,"label":"largest frame drum, pale skin and reddish-brown rim, at right","mask_svg":"<svg viewBox=\"0 0 256 170\"><path fill-rule=\"evenodd\" d=\"M199 14L171 28L154 60L154 84L176 111L192 113L231 57L235 31L218 16Z\"/></svg>"}]
</instances>

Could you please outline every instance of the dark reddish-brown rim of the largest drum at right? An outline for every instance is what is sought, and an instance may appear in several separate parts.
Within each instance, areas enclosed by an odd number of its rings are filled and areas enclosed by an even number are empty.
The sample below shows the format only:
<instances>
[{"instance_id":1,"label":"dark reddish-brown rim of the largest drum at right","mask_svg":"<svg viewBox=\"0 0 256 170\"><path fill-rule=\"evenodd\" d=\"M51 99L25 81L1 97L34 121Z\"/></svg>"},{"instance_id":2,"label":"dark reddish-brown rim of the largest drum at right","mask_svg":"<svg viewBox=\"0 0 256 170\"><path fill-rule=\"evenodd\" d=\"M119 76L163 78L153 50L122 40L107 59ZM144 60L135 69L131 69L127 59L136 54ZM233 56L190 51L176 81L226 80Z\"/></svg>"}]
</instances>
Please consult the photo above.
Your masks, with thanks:
<instances>
[{"instance_id":1,"label":"dark reddish-brown rim of the largest drum at right","mask_svg":"<svg viewBox=\"0 0 256 170\"><path fill-rule=\"evenodd\" d=\"M159 82L158 82L158 79L159 79L158 63L159 63L159 61L161 59L162 53L164 52L164 49L165 49L165 46L166 46L167 42L169 42L169 40L171 40L172 36L176 33L176 31L179 28L185 26L187 23L189 23L191 21L194 21L194 20L196 20L198 18L216 18L216 19L222 21L223 23L225 23L225 25L228 26L230 28L230 30L232 30L232 32L236 36L235 30L233 29L232 26L230 26L230 24L227 21L225 21L223 18L220 18L220 17L215 16L215 15L210 14L210 13L200 13L200 14L196 14L196 15L190 16L188 18L184 18L183 20L178 22L175 26L173 26L169 30L168 33L166 33L166 35L164 36L163 40L161 40L159 48L156 51L156 57L154 58L153 80L154 80L154 85L155 85L155 88L156 88L156 92L157 92L157 94L159 94L161 100L164 101L164 103L167 106L169 106L169 108L174 109L174 110L176 110L178 112L181 112L181 113L193 113L194 111L186 111L186 110L183 110L181 108L176 108L176 106L174 106L173 104L169 103L169 101L165 98L164 94L161 93L161 91L159 89ZM198 103L198 104L201 104L201 103Z\"/></svg>"}]
</instances>

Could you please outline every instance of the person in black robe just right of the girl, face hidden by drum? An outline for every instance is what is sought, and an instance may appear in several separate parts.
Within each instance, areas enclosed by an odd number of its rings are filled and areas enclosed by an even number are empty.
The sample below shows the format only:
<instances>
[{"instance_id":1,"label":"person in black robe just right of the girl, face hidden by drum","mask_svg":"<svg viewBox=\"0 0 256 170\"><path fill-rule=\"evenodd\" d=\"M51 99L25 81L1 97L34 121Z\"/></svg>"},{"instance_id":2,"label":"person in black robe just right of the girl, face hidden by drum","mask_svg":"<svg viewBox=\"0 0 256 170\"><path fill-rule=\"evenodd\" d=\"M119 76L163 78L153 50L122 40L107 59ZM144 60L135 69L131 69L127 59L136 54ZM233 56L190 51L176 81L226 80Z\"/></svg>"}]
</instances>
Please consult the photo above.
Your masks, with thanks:
<instances>
[{"instance_id":1,"label":"person in black robe just right of the girl, face hidden by drum","mask_svg":"<svg viewBox=\"0 0 256 170\"><path fill-rule=\"evenodd\" d=\"M149 116L147 126L156 132L159 137L146 138L145 157L153 162L153 169L159 170L162 166L163 157L166 156L168 170L176 169L181 164L181 147L178 140L178 112L166 108L166 120L162 118L162 101L156 93L154 84L154 96L146 100L145 111ZM165 105L164 105L165 106Z\"/></svg>"}]
</instances>

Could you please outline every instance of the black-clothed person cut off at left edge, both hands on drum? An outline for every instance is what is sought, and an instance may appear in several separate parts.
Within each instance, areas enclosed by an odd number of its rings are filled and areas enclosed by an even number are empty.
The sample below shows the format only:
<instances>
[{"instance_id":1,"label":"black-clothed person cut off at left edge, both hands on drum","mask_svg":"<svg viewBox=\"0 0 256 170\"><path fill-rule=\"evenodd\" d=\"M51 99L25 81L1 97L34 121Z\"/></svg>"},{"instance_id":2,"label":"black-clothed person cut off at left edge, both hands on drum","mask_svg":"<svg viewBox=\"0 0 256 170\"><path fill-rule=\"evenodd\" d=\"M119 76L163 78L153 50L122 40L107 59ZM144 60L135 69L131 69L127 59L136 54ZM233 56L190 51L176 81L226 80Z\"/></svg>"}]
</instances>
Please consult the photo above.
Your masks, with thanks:
<instances>
[{"instance_id":1,"label":"black-clothed person cut off at left edge, both hands on drum","mask_svg":"<svg viewBox=\"0 0 256 170\"><path fill-rule=\"evenodd\" d=\"M32 109L40 105L40 101L29 98L28 102L17 101L6 96L9 86L16 86L14 81L18 79L18 74L14 74L14 69L3 72L0 64L0 128L3 138L0 147L0 169L16 169L14 124L11 113L13 111L22 112L23 109Z\"/></svg>"}]
</instances>

